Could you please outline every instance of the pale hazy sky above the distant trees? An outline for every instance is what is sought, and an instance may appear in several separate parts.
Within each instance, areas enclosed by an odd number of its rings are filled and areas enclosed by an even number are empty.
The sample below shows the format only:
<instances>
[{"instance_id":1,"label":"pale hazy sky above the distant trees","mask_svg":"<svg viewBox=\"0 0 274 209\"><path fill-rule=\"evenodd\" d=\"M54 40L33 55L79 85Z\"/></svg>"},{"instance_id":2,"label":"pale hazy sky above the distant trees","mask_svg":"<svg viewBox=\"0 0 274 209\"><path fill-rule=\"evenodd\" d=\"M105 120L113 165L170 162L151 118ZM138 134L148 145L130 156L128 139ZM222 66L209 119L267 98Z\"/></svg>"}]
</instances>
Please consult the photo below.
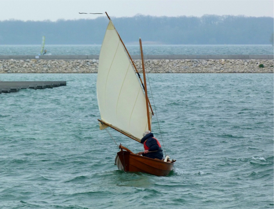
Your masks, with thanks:
<instances>
[{"instance_id":1,"label":"pale hazy sky above the distant trees","mask_svg":"<svg viewBox=\"0 0 274 209\"><path fill-rule=\"evenodd\" d=\"M0 0L0 21L93 19L104 13L113 17L245 15L274 17L273 0Z\"/></svg>"}]
</instances>

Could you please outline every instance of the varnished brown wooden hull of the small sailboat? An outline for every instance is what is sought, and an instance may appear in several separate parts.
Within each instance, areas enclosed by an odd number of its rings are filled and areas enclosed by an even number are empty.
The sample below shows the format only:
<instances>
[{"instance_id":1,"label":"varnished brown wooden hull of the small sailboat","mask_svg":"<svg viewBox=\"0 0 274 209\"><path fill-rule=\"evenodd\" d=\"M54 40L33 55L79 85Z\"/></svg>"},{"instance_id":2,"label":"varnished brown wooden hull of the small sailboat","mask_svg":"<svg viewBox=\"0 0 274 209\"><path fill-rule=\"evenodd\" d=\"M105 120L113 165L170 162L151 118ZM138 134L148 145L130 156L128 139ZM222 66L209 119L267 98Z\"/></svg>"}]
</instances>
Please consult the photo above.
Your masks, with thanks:
<instances>
[{"instance_id":1,"label":"varnished brown wooden hull of the small sailboat","mask_svg":"<svg viewBox=\"0 0 274 209\"><path fill-rule=\"evenodd\" d=\"M143 172L156 176L167 176L172 171L174 165L174 163L143 157L124 150L118 152L117 155L119 158L116 157L118 169L129 172Z\"/></svg>"}]
</instances>

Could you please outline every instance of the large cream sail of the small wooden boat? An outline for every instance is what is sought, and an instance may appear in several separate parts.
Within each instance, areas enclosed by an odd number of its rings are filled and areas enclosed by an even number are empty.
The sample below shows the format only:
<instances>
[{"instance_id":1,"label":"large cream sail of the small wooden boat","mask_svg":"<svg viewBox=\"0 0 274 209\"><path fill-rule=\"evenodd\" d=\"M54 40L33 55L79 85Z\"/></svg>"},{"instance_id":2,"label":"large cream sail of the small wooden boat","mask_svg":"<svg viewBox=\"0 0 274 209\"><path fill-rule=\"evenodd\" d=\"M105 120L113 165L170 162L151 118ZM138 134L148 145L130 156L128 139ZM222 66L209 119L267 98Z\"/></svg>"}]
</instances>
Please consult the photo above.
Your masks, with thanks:
<instances>
[{"instance_id":1,"label":"large cream sail of the small wooden boat","mask_svg":"<svg viewBox=\"0 0 274 209\"><path fill-rule=\"evenodd\" d=\"M142 86L111 20L100 51L97 99L103 122L139 139L148 130Z\"/></svg>"}]
</instances>

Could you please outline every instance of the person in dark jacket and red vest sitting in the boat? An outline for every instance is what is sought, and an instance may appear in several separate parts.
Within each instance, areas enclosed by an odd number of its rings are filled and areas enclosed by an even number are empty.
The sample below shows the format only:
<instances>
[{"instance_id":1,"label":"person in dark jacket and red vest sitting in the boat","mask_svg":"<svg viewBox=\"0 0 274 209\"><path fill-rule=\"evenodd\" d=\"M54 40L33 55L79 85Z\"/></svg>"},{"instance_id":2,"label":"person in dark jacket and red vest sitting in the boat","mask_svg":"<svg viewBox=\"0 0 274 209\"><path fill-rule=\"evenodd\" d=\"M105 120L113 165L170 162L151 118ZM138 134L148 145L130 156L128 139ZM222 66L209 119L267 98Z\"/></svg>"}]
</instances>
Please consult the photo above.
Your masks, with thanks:
<instances>
[{"instance_id":1,"label":"person in dark jacket and red vest sitting in the boat","mask_svg":"<svg viewBox=\"0 0 274 209\"><path fill-rule=\"evenodd\" d=\"M141 143L144 144L144 152L139 152L139 155L149 158L157 158L159 160L163 159L163 150L160 142L154 138L153 133L146 131L143 134Z\"/></svg>"}]
</instances>

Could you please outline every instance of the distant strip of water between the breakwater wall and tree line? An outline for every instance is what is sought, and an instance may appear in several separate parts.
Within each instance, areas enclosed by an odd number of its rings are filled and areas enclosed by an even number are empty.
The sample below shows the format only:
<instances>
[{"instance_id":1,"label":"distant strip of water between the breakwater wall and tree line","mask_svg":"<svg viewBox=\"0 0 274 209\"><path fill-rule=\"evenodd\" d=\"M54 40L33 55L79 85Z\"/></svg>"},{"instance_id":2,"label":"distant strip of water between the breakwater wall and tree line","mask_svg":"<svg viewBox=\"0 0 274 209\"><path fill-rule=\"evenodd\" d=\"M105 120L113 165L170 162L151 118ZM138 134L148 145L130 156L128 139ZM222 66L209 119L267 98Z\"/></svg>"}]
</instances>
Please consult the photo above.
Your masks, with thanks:
<instances>
[{"instance_id":1,"label":"distant strip of water between the breakwater wall and tree line","mask_svg":"<svg viewBox=\"0 0 274 209\"><path fill-rule=\"evenodd\" d=\"M139 45L126 44L131 55ZM46 55L99 55L101 45L48 45ZM41 45L0 45L0 55L38 55ZM143 45L146 55L273 55L268 45Z\"/></svg>"}]
</instances>

